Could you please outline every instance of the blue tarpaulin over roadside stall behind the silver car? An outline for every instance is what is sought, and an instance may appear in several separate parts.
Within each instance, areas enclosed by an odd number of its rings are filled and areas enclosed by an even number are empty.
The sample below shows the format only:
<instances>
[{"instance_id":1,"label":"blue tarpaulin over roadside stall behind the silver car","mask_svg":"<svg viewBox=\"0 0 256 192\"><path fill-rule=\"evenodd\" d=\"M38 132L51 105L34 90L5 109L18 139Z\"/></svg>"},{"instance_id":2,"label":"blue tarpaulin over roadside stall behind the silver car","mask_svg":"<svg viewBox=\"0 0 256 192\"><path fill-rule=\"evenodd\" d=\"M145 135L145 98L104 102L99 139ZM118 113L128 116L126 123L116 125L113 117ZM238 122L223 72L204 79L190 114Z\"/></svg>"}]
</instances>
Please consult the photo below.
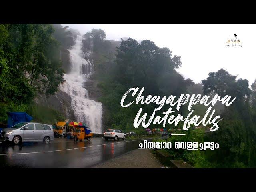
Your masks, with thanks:
<instances>
[{"instance_id":1,"label":"blue tarpaulin over roadside stall behind the silver car","mask_svg":"<svg viewBox=\"0 0 256 192\"><path fill-rule=\"evenodd\" d=\"M11 127L17 123L30 122L33 118L25 112L8 112L7 127Z\"/></svg>"}]
</instances>

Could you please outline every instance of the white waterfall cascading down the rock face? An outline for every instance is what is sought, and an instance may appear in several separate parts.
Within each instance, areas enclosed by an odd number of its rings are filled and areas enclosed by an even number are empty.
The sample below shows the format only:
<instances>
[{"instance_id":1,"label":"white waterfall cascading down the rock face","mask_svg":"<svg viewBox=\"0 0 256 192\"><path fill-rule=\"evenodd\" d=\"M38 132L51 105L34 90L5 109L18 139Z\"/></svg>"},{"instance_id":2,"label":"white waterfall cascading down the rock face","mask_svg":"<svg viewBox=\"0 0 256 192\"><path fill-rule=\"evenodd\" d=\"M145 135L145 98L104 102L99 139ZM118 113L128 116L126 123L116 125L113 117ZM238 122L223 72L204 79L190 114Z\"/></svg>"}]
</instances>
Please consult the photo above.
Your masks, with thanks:
<instances>
[{"instance_id":1,"label":"white waterfall cascading down the rock face","mask_svg":"<svg viewBox=\"0 0 256 192\"><path fill-rule=\"evenodd\" d=\"M71 70L69 74L64 74L66 81L60 85L60 89L70 95L76 121L86 122L94 133L102 133L102 103L90 100L88 91L83 87L84 82L90 80L94 72L94 65L89 59L83 58L83 39L77 36L74 46L69 49Z\"/></svg>"}]
</instances>

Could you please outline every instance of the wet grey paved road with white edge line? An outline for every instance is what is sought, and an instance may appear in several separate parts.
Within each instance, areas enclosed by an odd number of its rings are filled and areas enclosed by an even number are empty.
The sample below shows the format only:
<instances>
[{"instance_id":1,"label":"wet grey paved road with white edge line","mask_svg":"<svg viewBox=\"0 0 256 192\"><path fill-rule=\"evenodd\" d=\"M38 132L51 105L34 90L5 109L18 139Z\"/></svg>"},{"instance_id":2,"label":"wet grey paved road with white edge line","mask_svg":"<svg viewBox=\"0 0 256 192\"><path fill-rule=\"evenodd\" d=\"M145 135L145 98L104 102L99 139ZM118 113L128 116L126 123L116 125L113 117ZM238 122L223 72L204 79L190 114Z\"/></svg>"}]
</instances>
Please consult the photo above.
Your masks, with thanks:
<instances>
[{"instance_id":1,"label":"wet grey paved road with white edge line","mask_svg":"<svg viewBox=\"0 0 256 192\"><path fill-rule=\"evenodd\" d=\"M56 138L50 144L24 142L21 146L0 143L0 168L90 168L138 148L143 140L105 141L92 138L74 142Z\"/></svg>"}]
</instances>

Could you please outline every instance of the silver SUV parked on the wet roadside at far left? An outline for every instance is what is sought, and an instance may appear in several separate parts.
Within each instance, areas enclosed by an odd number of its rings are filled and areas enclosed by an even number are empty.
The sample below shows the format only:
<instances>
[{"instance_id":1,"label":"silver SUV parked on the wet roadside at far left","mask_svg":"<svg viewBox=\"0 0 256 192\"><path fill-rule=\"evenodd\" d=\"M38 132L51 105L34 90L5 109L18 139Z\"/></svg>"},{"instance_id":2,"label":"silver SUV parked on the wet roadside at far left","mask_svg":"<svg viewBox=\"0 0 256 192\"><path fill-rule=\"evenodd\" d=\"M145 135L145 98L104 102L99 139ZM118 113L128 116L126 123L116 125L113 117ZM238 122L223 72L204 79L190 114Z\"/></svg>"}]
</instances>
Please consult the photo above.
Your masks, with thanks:
<instances>
[{"instance_id":1,"label":"silver SUV parked on the wet roadside at far left","mask_svg":"<svg viewBox=\"0 0 256 192\"><path fill-rule=\"evenodd\" d=\"M54 140L54 132L51 125L24 122L3 129L1 137L14 144L20 144L22 141L43 141L48 144L50 140Z\"/></svg>"}]
</instances>

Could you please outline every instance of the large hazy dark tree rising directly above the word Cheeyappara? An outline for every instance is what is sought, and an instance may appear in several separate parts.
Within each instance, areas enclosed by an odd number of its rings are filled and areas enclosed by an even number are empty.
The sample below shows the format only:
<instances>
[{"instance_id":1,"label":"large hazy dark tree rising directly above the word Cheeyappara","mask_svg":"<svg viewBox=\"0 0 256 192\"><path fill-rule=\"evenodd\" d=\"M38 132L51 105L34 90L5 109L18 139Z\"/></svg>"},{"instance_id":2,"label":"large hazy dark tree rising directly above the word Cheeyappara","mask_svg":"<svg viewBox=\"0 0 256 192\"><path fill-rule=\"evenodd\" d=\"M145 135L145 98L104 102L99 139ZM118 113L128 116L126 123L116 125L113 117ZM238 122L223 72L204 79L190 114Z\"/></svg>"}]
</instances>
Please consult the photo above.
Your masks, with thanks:
<instances>
[{"instance_id":1,"label":"large hazy dark tree rising directly above the word Cheeyappara","mask_svg":"<svg viewBox=\"0 0 256 192\"><path fill-rule=\"evenodd\" d=\"M182 64L180 57L172 56L168 48L159 48L150 40L122 39L116 64L116 80L130 86L144 86L145 94L176 94L190 84L175 71Z\"/></svg>"}]
</instances>

